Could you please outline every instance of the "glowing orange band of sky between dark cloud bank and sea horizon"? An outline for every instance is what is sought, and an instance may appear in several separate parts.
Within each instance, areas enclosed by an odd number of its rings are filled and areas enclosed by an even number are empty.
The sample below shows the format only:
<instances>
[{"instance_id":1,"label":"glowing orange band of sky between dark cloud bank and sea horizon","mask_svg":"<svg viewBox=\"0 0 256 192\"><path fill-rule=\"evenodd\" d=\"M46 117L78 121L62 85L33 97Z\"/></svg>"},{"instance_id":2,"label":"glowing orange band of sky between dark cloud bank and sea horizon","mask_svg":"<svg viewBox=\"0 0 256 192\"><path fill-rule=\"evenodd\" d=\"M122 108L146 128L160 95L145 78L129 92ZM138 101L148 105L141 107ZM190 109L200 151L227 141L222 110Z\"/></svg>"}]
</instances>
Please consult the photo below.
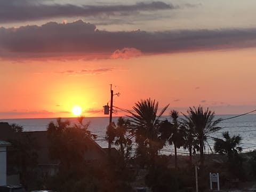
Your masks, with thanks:
<instances>
[{"instance_id":1,"label":"glowing orange band of sky between dark cloud bank and sea horizon","mask_svg":"<svg viewBox=\"0 0 256 192\"><path fill-rule=\"evenodd\" d=\"M93 61L4 61L1 65L2 118L103 116L113 83L114 106L132 109L140 99L153 98L159 107L183 112L202 105L217 114L237 114L256 106L255 49L201 51ZM157 65L156 65L157 63ZM241 64L242 63L242 64ZM61 67L60 67L61 66ZM70 67L71 66L71 67ZM110 68L99 74L63 71ZM13 70L19 69L19 70ZM8 81L7 81L8 79ZM231 109L231 110L230 110ZM118 111L117 116L127 115Z\"/></svg>"}]
</instances>

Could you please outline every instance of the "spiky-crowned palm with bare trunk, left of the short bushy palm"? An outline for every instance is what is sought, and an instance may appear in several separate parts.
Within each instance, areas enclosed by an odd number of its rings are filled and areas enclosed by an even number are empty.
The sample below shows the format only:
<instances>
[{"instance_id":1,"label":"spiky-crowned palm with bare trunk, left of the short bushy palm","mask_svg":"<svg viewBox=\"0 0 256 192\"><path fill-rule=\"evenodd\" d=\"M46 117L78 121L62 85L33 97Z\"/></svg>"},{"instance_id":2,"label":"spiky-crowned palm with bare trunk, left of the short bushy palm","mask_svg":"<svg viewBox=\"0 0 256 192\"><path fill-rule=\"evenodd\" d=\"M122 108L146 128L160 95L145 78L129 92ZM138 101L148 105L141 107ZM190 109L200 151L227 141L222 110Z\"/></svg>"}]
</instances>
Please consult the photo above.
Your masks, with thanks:
<instances>
[{"instance_id":1,"label":"spiky-crowned palm with bare trunk, left of the short bushy palm","mask_svg":"<svg viewBox=\"0 0 256 192\"><path fill-rule=\"evenodd\" d=\"M205 142L207 143L207 139L211 133L221 129L221 127L218 126L218 124L221 122L221 118L214 119L214 112L209 108L203 110L203 107L201 106L197 108L189 107L187 112L188 115L183 115L187 124L193 126L195 137L199 141L200 163L201 167L203 167Z\"/></svg>"}]
</instances>

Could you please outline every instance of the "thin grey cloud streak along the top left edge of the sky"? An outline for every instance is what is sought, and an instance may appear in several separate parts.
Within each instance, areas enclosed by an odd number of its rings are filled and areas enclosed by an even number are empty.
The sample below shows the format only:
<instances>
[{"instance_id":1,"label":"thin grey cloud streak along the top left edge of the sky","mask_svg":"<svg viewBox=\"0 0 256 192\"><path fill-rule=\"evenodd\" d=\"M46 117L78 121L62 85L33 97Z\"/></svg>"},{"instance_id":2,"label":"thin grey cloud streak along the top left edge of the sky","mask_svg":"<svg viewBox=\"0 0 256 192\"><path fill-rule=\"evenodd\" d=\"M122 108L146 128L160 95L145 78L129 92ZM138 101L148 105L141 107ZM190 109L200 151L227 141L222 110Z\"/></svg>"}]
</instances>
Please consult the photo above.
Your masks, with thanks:
<instances>
[{"instance_id":1,"label":"thin grey cloud streak along the top left edge of the sky","mask_svg":"<svg viewBox=\"0 0 256 192\"><path fill-rule=\"evenodd\" d=\"M45 0L0 0L0 6L0 23L40 20L58 17L95 17L101 14L129 14L136 11L171 10L179 8L179 6L166 4L161 1L149 3L141 2L133 5L77 6L73 4L45 4Z\"/></svg>"}]
</instances>

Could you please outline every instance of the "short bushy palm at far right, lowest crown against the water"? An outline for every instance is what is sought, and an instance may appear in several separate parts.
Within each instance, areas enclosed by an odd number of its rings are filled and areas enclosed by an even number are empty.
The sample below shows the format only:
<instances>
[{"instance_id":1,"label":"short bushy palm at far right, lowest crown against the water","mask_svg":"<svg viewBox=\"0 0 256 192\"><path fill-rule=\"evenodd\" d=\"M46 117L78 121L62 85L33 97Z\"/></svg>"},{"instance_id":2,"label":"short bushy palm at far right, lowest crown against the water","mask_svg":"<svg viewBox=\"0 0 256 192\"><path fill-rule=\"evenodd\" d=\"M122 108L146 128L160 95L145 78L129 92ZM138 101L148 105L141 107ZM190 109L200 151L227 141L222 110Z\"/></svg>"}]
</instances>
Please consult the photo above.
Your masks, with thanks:
<instances>
[{"instance_id":1,"label":"short bushy palm at far right, lowest crown against the water","mask_svg":"<svg viewBox=\"0 0 256 192\"><path fill-rule=\"evenodd\" d=\"M242 151L241 145L242 138L239 135L233 135L230 137L228 131L222 133L222 137L225 139L214 138L214 151L219 154L227 154L228 161L231 162L231 159L234 158L238 152Z\"/></svg>"}]
</instances>

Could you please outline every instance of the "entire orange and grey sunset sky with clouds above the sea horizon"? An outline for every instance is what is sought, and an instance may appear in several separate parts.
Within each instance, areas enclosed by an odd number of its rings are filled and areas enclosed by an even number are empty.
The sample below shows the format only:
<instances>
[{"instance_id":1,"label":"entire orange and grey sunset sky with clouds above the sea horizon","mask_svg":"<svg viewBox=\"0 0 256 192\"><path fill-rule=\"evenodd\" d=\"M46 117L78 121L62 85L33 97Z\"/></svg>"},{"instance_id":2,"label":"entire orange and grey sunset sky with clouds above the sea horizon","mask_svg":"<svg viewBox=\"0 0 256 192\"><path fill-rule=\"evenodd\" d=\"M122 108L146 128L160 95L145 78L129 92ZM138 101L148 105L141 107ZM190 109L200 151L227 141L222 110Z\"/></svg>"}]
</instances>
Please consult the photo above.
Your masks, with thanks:
<instances>
[{"instance_id":1,"label":"entire orange and grey sunset sky with clouds above the sea horizon","mask_svg":"<svg viewBox=\"0 0 256 192\"><path fill-rule=\"evenodd\" d=\"M0 119L104 116L140 99L256 109L256 1L0 0ZM125 115L118 111L117 116Z\"/></svg>"}]
</instances>

